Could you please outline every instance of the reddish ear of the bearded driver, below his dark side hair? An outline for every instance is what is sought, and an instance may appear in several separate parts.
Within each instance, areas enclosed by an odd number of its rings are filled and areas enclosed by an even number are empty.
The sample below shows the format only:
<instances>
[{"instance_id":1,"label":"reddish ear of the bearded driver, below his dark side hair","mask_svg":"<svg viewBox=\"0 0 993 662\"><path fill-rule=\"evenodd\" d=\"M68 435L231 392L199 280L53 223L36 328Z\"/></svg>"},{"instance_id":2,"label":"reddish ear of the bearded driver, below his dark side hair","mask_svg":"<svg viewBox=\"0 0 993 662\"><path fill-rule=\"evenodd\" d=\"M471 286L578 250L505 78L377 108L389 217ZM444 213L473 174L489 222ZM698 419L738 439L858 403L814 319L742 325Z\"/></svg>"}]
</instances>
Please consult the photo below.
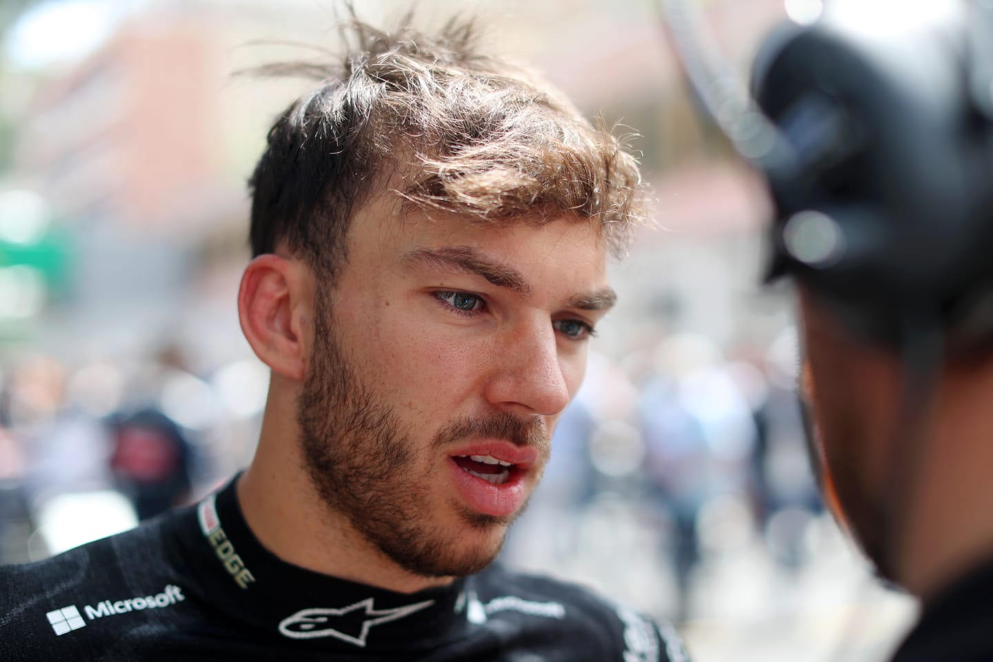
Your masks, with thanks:
<instances>
[{"instance_id":1,"label":"reddish ear of the bearded driver, below his dark side hair","mask_svg":"<svg viewBox=\"0 0 993 662\"><path fill-rule=\"evenodd\" d=\"M310 271L300 262L260 255L241 275L238 320L255 355L278 374L303 381L306 325L313 311Z\"/></svg>"}]
</instances>

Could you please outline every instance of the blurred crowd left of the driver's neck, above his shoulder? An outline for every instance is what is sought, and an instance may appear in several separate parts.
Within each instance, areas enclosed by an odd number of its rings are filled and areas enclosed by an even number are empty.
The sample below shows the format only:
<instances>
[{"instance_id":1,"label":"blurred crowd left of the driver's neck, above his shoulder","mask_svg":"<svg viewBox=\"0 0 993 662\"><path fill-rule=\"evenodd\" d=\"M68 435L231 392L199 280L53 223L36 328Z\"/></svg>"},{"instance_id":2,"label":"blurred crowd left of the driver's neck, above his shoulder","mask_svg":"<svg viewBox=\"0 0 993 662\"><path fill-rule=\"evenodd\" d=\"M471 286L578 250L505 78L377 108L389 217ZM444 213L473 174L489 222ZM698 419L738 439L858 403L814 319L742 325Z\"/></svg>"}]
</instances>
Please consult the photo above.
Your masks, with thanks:
<instances>
[{"instance_id":1,"label":"blurred crowd left of the driver's neck, above his shoulder","mask_svg":"<svg viewBox=\"0 0 993 662\"><path fill-rule=\"evenodd\" d=\"M0 563L199 498L248 460L268 384L257 361L200 374L174 346L133 362L0 365Z\"/></svg>"}]
</instances>

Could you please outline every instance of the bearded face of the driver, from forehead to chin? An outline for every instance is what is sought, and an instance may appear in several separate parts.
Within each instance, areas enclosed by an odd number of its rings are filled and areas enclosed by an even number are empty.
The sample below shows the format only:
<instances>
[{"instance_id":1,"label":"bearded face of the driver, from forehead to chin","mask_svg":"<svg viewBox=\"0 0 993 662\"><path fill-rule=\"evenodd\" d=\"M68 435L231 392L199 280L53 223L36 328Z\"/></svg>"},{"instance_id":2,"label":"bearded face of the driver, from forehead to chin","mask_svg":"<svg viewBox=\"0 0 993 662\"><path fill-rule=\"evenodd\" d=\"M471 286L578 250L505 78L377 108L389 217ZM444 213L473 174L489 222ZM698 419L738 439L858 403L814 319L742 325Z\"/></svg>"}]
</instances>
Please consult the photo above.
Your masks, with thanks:
<instances>
[{"instance_id":1,"label":"bearded face of the driver, from forehead to chin","mask_svg":"<svg viewBox=\"0 0 993 662\"><path fill-rule=\"evenodd\" d=\"M425 577L497 555L612 305L589 221L481 226L373 201L332 291L317 284L298 401L304 462L336 515Z\"/></svg>"}]
</instances>

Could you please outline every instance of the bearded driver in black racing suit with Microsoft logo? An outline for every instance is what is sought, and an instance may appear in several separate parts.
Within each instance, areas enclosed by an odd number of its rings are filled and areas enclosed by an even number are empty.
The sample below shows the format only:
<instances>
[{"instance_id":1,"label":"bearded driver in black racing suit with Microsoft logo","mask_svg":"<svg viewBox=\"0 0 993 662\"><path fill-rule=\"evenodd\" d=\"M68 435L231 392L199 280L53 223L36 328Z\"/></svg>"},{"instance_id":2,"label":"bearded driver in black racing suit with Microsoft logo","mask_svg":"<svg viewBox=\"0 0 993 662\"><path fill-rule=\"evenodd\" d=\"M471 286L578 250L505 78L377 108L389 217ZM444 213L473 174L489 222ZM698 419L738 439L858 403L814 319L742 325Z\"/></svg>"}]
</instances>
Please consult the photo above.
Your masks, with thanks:
<instances>
[{"instance_id":1,"label":"bearded driver in black racing suit with Microsoft logo","mask_svg":"<svg viewBox=\"0 0 993 662\"><path fill-rule=\"evenodd\" d=\"M684 660L667 626L491 567L615 294L638 172L530 73L355 22L251 180L251 465L0 575L4 660Z\"/></svg>"}]
</instances>

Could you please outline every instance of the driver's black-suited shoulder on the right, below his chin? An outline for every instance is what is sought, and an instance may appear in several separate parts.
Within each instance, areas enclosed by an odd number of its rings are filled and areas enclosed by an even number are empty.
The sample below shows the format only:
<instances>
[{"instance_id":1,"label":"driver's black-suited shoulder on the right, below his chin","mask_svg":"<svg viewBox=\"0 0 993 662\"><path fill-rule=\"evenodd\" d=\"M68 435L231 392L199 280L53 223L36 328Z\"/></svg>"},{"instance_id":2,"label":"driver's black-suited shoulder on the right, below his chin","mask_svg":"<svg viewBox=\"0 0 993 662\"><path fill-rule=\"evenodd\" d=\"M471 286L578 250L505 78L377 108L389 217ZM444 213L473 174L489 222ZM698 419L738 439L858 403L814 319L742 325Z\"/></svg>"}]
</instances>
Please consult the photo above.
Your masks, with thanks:
<instances>
[{"instance_id":1,"label":"driver's black-suited shoulder on the right, below his chin","mask_svg":"<svg viewBox=\"0 0 993 662\"><path fill-rule=\"evenodd\" d=\"M664 621L570 582L494 566L481 573L475 605L486 617L516 613L561 629L569 640L585 641L624 662L688 662L675 628ZM474 605L470 605L470 618ZM563 641L566 639L563 639Z\"/></svg>"}]
</instances>

